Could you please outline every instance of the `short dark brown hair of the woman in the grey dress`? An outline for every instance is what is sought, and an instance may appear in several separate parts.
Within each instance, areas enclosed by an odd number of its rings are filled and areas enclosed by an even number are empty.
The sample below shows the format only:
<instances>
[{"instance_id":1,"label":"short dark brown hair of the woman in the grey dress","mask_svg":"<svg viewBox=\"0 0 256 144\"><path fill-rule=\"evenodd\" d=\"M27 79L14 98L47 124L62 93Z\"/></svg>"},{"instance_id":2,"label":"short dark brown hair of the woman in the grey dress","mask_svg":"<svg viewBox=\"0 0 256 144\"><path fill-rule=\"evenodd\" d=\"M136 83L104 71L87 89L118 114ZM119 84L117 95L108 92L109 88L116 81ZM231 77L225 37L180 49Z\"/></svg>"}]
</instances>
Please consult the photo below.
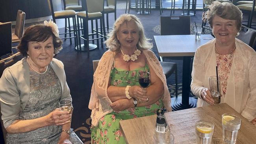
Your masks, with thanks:
<instances>
[{"instance_id":1,"label":"short dark brown hair of the woman in the grey dress","mask_svg":"<svg viewBox=\"0 0 256 144\"><path fill-rule=\"evenodd\" d=\"M37 24L28 27L20 39L20 43L17 48L23 56L27 57L28 42L45 42L51 36L53 39L54 54L58 54L62 49L62 41L59 37L54 35L50 26L45 26L44 24Z\"/></svg>"}]
</instances>

